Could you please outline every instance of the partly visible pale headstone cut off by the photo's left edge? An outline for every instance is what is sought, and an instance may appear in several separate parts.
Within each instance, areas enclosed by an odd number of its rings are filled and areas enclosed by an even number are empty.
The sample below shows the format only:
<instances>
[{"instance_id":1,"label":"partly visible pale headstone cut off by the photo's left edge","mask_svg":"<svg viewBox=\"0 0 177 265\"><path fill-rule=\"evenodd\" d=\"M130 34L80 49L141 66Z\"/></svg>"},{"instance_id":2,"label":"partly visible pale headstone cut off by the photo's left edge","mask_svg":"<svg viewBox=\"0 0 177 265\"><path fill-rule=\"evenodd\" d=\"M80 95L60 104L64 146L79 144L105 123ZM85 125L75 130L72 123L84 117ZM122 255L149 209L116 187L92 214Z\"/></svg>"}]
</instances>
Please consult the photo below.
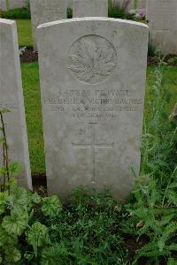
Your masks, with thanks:
<instances>
[{"instance_id":1,"label":"partly visible pale headstone cut off by the photo's left edge","mask_svg":"<svg viewBox=\"0 0 177 265\"><path fill-rule=\"evenodd\" d=\"M15 21L8 19L0 19L0 110L4 109L11 110L11 113L4 114L9 157L22 166L19 185L32 189L17 28ZM0 144L1 159L2 155Z\"/></svg>"}]
</instances>

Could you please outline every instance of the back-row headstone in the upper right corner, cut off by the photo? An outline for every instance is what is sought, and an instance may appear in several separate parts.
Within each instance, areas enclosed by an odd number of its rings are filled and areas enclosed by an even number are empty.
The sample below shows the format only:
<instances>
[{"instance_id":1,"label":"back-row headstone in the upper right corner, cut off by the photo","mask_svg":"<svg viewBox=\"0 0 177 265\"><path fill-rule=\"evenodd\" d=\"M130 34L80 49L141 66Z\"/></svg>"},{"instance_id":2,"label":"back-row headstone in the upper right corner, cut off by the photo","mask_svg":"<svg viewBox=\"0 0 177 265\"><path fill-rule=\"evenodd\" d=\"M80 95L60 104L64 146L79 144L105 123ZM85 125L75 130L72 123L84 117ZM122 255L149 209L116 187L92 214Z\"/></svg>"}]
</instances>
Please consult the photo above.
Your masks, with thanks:
<instances>
[{"instance_id":1,"label":"back-row headstone in the upper right corner, cut off by the photo","mask_svg":"<svg viewBox=\"0 0 177 265\"><path fill-rule=\"evenodd\" d=\"M177 54L177 1L148 0L150 42L164 55Z\"/></svg>"}]
</instances>

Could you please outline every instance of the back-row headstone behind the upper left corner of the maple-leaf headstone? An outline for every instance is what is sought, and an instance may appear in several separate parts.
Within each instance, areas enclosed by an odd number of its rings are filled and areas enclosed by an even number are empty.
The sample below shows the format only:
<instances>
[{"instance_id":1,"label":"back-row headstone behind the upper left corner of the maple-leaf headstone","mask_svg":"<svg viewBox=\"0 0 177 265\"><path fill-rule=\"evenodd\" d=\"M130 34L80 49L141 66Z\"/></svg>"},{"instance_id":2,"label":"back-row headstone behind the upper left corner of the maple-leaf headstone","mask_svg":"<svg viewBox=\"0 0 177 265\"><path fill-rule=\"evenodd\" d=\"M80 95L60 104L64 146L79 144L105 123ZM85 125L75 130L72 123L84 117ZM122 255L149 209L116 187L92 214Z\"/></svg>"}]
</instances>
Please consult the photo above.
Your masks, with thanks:
<instances>
[{"instance_id":1,"label":"back-row headstone behind the upper left corner of the maple-leaf headstone","mask_svg":"<svg viewBox=\"0 0 177 265\"><path fill-rule=\"evenodd\" d=\"M34 49L37 50L36 30L46 22L66 19L66 0L30 0Z\"/></svg>"}]
</instances>

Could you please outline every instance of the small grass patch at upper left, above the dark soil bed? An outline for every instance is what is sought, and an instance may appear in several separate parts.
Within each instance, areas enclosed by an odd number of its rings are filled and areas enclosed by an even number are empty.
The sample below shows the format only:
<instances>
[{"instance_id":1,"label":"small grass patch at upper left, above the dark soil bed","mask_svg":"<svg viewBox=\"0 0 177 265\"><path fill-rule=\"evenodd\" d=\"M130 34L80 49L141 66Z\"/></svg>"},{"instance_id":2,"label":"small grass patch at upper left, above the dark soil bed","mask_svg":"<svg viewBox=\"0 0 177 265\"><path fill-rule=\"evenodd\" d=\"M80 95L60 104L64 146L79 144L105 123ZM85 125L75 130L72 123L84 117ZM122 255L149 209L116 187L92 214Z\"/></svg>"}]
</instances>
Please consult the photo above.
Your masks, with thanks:
<instances>
[{"instance_id":1,"label":"small grass patch at upper left, above the dark soil bed","mask_svg":"<svg viewBox=\"0 0 177 265\"><path fill-rule=\"evenodd\" d=\"M32 26L30 19L16 19L19 46L33 47Z\"/></svg>"}]
</instances>

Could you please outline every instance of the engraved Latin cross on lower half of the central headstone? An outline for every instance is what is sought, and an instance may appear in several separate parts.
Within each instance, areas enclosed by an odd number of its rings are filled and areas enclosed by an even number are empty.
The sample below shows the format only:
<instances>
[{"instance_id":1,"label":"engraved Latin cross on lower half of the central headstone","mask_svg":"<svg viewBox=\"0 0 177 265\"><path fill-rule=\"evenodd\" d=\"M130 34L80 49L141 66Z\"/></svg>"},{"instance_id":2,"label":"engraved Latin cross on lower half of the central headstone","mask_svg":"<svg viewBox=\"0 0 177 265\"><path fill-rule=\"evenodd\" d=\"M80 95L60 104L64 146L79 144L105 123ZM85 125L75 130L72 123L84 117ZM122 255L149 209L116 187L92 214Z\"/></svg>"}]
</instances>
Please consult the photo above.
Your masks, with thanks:
<instances>
[{"instance_id":1,"label":"engraved Latin cross on lower half of the central headstone","mask_svg":"<svg viewBox=\"0 0 177 265\"><path fill-rule=\"evenodd\" d=\"M90 143L72 143L73 148L91 148L91 159L93 164L93 182L96 182L96 148L113 148L112 143L97 143L96 142L96 123L90 123L92 129L92 140Z\"/></svg>"}]
</instances>

